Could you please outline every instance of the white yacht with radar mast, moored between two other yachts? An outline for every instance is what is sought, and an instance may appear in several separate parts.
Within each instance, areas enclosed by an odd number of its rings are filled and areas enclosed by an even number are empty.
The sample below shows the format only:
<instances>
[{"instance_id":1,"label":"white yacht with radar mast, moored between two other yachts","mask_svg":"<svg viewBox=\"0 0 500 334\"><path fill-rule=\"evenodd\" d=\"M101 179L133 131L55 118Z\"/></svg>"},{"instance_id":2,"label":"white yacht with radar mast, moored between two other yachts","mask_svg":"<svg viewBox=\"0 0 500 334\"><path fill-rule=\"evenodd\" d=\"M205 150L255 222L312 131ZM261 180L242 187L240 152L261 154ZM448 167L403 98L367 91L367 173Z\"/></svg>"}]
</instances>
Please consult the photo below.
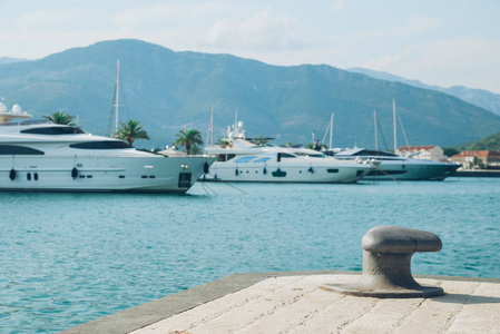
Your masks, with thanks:
<instances>
[{"instance_id":1,"label":"white yacht with radar mast, moored between two other yachts","mask_svg":"<svg viewBox=\"0 0 500 334\"><path fill-rule=\"evenodd\" d=\"M262 183L355 183L372 171L372 161L342 161L306 148L257 146L245 138L243 122L228 130L226 144L205 147L218 155L202 180Z\"/></svg>"}]
</instances>

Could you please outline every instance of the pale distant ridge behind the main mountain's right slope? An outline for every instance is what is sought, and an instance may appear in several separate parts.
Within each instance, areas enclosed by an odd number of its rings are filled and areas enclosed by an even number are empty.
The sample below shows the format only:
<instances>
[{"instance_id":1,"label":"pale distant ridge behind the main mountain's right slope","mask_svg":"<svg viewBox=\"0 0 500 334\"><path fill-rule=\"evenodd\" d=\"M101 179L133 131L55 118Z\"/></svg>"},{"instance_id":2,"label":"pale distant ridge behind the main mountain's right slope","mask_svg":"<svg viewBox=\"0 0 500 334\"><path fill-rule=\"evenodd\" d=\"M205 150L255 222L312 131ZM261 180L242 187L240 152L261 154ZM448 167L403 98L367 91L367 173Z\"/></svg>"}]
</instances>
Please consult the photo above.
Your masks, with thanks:
<instances>
[{"instance_id":1,"label":"pale distant ridge behind the main mountain's right slope","mask_svg":"<svg viewBox=\"0 0 500 334\"><path fill-rule=\"evenodd\" d=\"M453 86L450 88L443 88L443 87L439 87L439 86L429 86L419 80L409 80L409 79L393 76L393 75L390 75L386 72L380 72L380 71L374 71L371 69L364 69L364 68L359 68L359 67L350 68L350 69L347 69L347 71L366 75L374 79L381 79L381 80L386 80L386 81L398 81L398 82L402 82L402 84L410 85L413 87L442 91L442 92L449 94L451 96L454 96L461 100L464 100L465 102L469 102L471 105L481 107L481 108L490 110L497 115L500 115L500 95L488 91L488 90L472 89L472 88L467 88L463 86Z\"/></svg>"}]
</instances>

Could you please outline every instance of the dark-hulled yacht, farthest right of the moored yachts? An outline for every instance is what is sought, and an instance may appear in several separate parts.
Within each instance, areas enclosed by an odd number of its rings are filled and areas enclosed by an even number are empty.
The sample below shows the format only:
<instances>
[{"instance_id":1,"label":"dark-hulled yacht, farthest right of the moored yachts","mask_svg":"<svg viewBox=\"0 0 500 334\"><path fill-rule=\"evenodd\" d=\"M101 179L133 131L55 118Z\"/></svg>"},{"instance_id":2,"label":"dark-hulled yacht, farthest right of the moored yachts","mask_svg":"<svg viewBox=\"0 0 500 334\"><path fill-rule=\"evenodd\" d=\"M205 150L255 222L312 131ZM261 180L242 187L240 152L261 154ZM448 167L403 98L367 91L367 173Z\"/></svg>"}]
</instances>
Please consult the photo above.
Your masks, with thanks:
<instances>
[{"instance_id":1,"label":"dark-hulled yacht, farthest right of the moored yachts","mask_svg":"<svg viewBox=\"0 0 500 334\"><path fill-rule=\"evenodd\" d=\"M460 167L453 163L412 159L383 150L365 148L340 151L334 157L342 160L360 158L379 160L378 168L366 175L365 179L443 180Z\"/></svg>"}]
</instances>

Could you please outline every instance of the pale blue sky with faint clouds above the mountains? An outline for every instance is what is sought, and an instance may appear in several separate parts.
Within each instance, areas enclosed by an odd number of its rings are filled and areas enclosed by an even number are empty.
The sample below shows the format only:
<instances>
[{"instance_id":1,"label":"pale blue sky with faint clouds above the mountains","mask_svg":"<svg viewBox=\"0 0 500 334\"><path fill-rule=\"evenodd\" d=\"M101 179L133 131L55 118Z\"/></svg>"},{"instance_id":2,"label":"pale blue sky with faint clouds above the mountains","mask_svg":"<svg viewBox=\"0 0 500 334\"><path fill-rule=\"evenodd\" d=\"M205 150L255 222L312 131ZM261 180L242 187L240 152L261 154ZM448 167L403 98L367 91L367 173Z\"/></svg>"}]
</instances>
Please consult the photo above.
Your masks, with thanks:
<instances>
[{"instance_id":1,"label":"pale blue sky with faint clouds above the mountains","mask_svg":"<svg viewBox=\"0 0 500 334\"><path fill-rule=\"evenodd\" d=\"M0 57L122 38L500 94L499 0L0 0Z\"/></svg>"}]
</instances>

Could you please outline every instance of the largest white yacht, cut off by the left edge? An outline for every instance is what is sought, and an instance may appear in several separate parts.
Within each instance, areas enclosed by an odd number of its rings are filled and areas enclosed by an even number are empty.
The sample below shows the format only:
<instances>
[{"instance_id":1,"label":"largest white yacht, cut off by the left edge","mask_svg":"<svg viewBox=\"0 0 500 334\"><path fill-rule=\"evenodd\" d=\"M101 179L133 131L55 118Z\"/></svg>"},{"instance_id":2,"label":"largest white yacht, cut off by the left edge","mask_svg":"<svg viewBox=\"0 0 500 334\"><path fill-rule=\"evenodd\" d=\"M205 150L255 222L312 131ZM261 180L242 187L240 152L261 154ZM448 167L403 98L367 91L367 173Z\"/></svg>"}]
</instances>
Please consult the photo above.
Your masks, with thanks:
<instances>
[{"instance_id":1,"label":"largest white yacht, cut off by the left edge","mask_svg":"<svg viewBox=\"0 0 500 334\"><path fill-rule=\"evenodd\" d=\"M166 157L0 104L0 190L186 193L215 157Z\"/></svg>"}]
</instances>

